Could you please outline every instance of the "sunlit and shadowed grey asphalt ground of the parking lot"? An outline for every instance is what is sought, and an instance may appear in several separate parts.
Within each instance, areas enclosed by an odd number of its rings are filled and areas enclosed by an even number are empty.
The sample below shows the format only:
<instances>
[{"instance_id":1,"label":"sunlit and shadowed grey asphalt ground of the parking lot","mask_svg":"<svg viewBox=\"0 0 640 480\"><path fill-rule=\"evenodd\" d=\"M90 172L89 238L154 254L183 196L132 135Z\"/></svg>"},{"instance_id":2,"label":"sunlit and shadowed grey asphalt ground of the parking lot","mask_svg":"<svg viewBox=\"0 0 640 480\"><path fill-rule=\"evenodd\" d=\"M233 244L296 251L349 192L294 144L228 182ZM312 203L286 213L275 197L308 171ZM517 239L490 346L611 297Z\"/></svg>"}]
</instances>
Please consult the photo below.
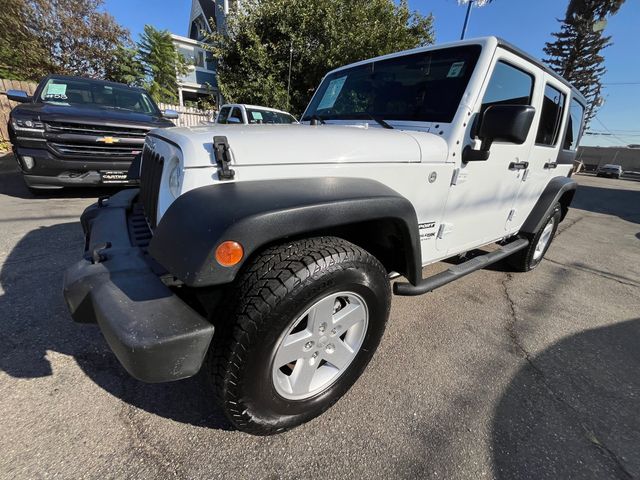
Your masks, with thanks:
<instances>
[{"instance_id":1,"label":"sunlit and shadowed grey asphalt ground of the parking lot","mask_svg":"<svg viewBox=\"0 0 640 480\"><path fill-rule=\"evenodd\" d=\"M0 157L0 478L640 478L640 182L586 175L547 259L394 297L323 416L234 431L202 378L147 385L72 322L102 193L34 198Z\"/></svg>"}]
</instances>

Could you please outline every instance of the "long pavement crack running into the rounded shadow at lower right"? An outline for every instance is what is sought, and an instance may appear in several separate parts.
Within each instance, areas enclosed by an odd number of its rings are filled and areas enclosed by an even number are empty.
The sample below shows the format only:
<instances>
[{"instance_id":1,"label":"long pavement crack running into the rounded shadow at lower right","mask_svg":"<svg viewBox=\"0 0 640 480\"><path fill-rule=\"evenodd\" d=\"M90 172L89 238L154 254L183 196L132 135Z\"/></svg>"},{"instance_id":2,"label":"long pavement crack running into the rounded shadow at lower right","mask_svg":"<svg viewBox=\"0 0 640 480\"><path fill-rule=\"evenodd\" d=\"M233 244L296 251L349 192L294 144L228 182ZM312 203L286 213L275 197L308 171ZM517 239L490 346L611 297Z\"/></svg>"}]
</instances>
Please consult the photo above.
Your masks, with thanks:
<instances>
[{"instance_id":1,"label":"long pavement crack running into the rounded shadow at lower right","mask_svg":"<svg viewBox=\"0 0 640 480\"><path fill-rule=\"evenodd\" d=\"M596 446L615 465L615 468L618 470L621 478L624 478L624 479L635 478L632 475L632 473L629 472L629 470L627 470L624 463L622 462L622 459L616 454L616 452L614 452L608 445L606 445L603 441L601 441L597 437L595 433L595 428L593 428L593 426L590 426L588 421L583 420L585 415L577 407L569 403L560 394L560 392L557 392L551 386L544 371L534 363L531 353L527 351L527 349L522 344L516 332L516 324L519 321L518 312L516 309L516 302L511 297L511 294L509 293L509 287L508 287L508 282L511 281L512 279L513 279L513 275L511 273L507 273L501 283L502 283L502 288L504 290L505 298L509 305L509 313L510 313L509 321L507 322L507 325L506 325L506 330L507 330L507 333L509 334L509 339L511 340L511 343L515 347L516 354L527 362L527 365L532 369L534 373L534 377L541 382L542 386L551 395L551 397L556 402L558 402L561 406L564 406L565 408L567 408L573 414L573 417L574 417L573 420L580 425L580 427L584 432L585 438L589 442L591 442L592 445Z\"/></svg>"}]
</instances>

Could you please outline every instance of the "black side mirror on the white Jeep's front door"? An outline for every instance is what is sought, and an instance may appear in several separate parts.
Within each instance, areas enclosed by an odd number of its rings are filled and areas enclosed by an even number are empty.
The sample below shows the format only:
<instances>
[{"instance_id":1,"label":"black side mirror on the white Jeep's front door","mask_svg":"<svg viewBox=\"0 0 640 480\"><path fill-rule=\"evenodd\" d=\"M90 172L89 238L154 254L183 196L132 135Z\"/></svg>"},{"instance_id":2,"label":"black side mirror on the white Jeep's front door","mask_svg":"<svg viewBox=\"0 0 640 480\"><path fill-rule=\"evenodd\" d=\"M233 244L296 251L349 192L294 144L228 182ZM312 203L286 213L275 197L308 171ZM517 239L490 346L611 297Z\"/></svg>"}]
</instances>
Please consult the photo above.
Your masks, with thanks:
<instances>
[{"instance_id":1,"label":"black side mirror on the white Jeep's front door","mask_svg":"<svg viewBox=\"0 0 640 480\"><path fill-rule=\"evenodd\" d=\"M529 135L535 114L536 109L530 105L490 106L480 119L480 150L472 150L467 146L462 152L462 161L466 163L488 160L489 150L494 141L522 145Z\"/></svg>"}]
</instances>

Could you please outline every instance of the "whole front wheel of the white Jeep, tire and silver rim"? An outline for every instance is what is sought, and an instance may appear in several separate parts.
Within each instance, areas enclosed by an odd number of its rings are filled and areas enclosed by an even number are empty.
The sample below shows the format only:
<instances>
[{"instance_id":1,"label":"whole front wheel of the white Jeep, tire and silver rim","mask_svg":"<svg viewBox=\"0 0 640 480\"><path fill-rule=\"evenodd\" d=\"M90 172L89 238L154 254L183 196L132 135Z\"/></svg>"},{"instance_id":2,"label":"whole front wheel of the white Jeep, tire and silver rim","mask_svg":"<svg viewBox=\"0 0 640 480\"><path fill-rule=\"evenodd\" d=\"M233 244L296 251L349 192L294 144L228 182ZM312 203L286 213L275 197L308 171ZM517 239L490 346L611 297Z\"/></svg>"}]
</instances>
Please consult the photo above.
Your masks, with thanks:
<instances>
[{"instance_id":1,"label":"whole front wheel of the white Jeep, tire and silver rim","mask_svg":"<svg viewBox=\"0 0 640 480\"><path fill-rule=\"evenodd\" d=\"M244 267L225 302L208 366L230 421L271 435L333 405L384 333L387 272L335 237L292 241Z\"/></svg>"}]
</instances>

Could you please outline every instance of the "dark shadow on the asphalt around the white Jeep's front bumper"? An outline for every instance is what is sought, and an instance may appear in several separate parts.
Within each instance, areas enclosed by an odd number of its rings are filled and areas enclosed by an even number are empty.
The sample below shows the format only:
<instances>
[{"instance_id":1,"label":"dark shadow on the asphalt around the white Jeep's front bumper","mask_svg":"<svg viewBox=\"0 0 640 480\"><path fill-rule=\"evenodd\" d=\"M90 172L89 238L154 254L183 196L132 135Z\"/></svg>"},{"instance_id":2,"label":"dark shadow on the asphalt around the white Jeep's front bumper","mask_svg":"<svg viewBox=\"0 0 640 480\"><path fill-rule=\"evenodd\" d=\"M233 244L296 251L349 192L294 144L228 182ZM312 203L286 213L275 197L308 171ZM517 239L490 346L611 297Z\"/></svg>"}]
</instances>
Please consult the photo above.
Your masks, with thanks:
<instances>
[{"instance_id":1,"label":"dark shadow on the asphalt around the white Jeep's front bumper","mask_svg":"<svg viewBox=\"0 0 640 480\"><path fill-rule=\"evenodd\" d=\"M96 325L72 321L62 298L64 270L84 240L78 222L25 235L0 270L0 369L14 378L52 375L47 352L73 357L97 385L150 413L208 428L231 429L206 379L145 384L120 366Z\"/></svg>"}]
</instances>

